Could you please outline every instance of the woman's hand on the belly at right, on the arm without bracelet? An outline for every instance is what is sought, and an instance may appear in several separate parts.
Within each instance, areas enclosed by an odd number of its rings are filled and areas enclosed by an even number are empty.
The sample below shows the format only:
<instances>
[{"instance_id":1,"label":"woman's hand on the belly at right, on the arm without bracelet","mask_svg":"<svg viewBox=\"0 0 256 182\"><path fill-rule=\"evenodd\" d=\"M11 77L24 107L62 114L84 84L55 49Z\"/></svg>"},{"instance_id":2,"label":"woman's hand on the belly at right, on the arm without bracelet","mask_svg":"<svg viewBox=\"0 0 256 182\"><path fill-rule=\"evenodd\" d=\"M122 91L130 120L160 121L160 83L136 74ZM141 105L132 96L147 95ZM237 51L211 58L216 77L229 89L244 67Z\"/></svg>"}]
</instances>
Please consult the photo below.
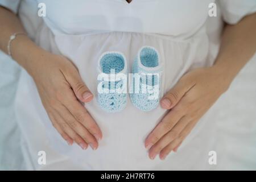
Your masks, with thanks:
<instances>
[{"instance_id":1,"label":"woman's hand on the belly at right, on the arm without bracelet","mask_svg":"<svg viewBox=\"0 0 256 182\"><path fill-rule=\"evenodd\" d=\"M199 68L185 74L161 100L168 113L148 135L145 147L150 159L160 159L183 142L197 121L230 84L217 67Z\"/></svg>"}]
</instances>

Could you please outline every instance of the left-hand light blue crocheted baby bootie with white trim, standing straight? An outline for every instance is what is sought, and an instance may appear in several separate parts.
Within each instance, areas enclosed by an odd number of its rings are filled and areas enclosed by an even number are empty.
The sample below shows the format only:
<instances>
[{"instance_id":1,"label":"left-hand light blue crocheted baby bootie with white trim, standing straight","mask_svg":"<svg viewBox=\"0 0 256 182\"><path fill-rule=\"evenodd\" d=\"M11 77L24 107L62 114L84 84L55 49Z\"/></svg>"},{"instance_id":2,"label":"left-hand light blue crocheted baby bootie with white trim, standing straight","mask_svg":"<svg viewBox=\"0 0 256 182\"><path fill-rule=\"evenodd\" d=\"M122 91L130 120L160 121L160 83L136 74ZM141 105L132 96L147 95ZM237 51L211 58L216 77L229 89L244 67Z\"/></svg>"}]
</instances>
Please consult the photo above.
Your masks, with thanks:
<instances>
[{"instance_id":1,"label":"left-hand light blue crocheted baby bootie with white trim, standing straight","mask_svg":"<svg viewBox=\"0 0 256 182\"><path fill-rule=\"evenodd\" d=\"M115 113L127 104L127 63L121 52L104 52L98 61L98 104Z\"/></svg>"}]
</instances>

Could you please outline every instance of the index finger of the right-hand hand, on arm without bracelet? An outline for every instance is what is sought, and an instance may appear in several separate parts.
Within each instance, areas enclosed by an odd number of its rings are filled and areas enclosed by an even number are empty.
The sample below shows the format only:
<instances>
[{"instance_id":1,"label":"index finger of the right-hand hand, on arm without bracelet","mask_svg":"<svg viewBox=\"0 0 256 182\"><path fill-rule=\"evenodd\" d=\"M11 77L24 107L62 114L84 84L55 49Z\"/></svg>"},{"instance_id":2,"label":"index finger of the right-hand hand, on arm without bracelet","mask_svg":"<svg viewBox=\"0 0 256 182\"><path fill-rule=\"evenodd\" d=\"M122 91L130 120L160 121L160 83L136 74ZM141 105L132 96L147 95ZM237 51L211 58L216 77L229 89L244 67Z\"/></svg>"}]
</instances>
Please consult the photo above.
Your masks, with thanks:
<instances>
[{"instance_id":1,"label":"index finger of the right-hand hand, on arm without bracelet","mask_svg":"<svg viewBox=\"0 0 256 182\"><path fill-rule=\"evenodd\" d=\"M147 149L151 148L160 138L167 134L182 117L183 112L181 110L172 109L148 135L145 141L145 147Z\"/></svg>"}]
</instances>

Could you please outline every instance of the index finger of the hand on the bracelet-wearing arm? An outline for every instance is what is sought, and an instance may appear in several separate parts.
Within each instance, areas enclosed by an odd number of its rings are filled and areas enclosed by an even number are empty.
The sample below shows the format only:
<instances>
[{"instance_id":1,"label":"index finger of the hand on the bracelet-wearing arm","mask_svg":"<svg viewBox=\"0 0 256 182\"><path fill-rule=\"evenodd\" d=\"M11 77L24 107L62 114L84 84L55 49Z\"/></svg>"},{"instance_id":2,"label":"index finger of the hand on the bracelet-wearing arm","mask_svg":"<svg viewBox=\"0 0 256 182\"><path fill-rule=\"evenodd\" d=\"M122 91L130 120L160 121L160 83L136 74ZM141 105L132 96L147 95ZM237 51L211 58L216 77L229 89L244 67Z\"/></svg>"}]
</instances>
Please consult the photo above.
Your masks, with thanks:
<instances>
[{"instance_id":1,"label":"index finger of the hand on the bracelet-wearing arm","mask_svg":"<svg viewBox=\"0 0 256 182\"><path fill-rule=\"evenodd\" d=\"M82 126L84 126L89 131L89 133L92 134L97 141L99 141L102 138L100 127L98 127L97 123L94 121L85 107L76 100L75 95L71 92L72 90L69 91L70 94L65 96L63 104L73 115L76 121L80 122Z\"/></svg>"}]
</instances>

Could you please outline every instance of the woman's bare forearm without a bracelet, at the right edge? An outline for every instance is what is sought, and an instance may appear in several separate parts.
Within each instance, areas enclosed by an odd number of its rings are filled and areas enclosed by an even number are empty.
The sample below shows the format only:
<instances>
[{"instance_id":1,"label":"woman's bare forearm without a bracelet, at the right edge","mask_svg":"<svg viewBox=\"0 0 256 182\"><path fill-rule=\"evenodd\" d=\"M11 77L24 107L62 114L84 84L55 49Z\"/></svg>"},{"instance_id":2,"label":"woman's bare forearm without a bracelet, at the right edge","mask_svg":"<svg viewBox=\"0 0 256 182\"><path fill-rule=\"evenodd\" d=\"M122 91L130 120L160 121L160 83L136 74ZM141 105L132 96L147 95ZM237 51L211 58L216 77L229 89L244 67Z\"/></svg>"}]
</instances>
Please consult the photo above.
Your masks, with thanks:
<instances>
[{"instance_id":1,"label":"woman's bare forearm without a bracelet, at the right edge","mask_svg":"<svg viewBox=\"0 0 256 182\"><path fill-rule=\"evenodd\" d=\"M236 25L226 25L220 52L213 67L228 84L256 51L256 13L246 16Z\"/></svg>"}]
</instances>

